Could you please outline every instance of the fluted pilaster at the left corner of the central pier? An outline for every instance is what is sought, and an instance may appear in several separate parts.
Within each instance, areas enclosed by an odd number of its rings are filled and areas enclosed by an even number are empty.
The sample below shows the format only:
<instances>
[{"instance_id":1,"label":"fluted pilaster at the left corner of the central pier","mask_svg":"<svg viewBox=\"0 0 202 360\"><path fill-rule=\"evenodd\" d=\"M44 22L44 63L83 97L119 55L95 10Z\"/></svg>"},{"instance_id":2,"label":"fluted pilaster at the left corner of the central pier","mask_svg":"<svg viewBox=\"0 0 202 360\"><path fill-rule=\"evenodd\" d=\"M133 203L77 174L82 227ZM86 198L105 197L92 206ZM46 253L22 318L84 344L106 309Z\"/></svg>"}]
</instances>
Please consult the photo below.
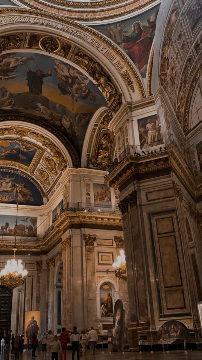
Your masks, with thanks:
<instances>
[{"instance_id":1,"label":"fluted pilaster at the left corner of the central pier","mask_svg":"<svg viewBox=\"0 0 202 360\"><path fill-rule=\"evenodd\" d=\"M62 324L66 329L72 327L72 302L71 302L71 236L61 242L63 260L63 319Z\"/></svg>"}]
</instances>

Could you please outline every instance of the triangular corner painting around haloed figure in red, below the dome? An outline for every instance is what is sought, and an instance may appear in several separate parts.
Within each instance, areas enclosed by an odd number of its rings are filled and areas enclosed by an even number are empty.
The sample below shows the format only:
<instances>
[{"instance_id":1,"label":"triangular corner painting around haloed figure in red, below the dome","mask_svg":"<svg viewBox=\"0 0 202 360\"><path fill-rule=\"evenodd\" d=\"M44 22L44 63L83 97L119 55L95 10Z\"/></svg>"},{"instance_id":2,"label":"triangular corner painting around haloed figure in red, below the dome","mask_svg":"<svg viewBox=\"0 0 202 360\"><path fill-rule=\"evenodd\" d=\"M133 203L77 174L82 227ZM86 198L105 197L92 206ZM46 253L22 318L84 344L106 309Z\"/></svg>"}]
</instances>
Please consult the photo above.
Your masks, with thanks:
<instances>
[{"instance_id":1,"label":"triangular corner painting around haloed figure in red, below the dome","mask_svg":"<svg viewBox=\"0 0 202 360\"><path fill-rule=\"evenodd\" d=\"M159 6L156 6L136 17L92 28L120 46L137 66L141 76L146 77L158 12Z\"/></svg>"}]
</instances>

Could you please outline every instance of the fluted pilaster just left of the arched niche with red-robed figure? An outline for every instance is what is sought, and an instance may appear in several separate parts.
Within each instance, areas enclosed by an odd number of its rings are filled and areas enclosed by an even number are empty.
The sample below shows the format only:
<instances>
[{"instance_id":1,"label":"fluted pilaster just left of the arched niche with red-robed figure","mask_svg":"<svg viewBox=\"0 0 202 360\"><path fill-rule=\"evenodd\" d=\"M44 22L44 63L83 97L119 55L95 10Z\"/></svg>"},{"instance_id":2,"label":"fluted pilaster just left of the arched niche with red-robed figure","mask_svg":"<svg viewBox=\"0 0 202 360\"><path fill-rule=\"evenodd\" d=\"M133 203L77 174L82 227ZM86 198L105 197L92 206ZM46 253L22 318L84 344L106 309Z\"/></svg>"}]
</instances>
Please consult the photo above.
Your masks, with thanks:
<instances>
[{"instance_id":1,"label":"fluted pilaster just left of the arched niche with red-robed figure","mask_svg":"<svg viewBox=\"0 0 202 360\"><path fill-rule=\"evenodd\" d=\"M84 235L86 245L86 282L88 327L97 325L96 280L95 280L95 240L96 235Z\"/></svg>"}]
</instances>

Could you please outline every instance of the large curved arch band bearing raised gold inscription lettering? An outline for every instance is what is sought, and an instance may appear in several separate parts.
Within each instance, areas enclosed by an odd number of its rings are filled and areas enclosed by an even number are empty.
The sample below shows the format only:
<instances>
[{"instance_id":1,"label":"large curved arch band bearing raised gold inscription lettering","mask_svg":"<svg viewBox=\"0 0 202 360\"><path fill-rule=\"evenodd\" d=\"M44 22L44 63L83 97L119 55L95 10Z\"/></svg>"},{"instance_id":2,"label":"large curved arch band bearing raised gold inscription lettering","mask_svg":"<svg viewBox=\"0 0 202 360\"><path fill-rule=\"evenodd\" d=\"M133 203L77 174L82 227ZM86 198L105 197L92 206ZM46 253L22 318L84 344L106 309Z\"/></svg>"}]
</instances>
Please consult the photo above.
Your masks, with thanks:
<instances>
[{"instance_id":1,"label":"large curved arch band bearing raised gold inscription lettering","mask_svg":"<svg viewBox=\"0 0 202 360\"><path fill-rule=\"evenodd\" d=\"M74 22L70 19L64 20L64 17L61 16L49 14L47 17L47 13L22 8L1 8L0 24L1 26L6 26L6 32L8 32L7 29L9 25L12 26L16 24L22 24L23 26L26 25L26 30L28 32L33 32L34 28L32 26L34 24L36 25L36 27L43 26L43 31L45 30L45 26L46 28L50 28L50 31L56 30L60 32L59 37L65 40L66 34L72 35L80 41L80 46L81 41L83 41L83 43L91 45L91 49L96 49L106 58L107 62L111 63L115 71L119 74L119 76L123 78L125 86L128 89L128 95L130 96L130 98L132 96L131 93L133 92L131 81L136 86L139 97L146 98L143 83L139 78L138 73L132 62L126 57L126 55L120 48L118 48L115 44L113 44L109 39L107 39L100 33L97 33L95 30L80 23ZM50 31L49 36L52 36L53 34ZM18 29L18 32L20 32L20 28ZM83 50L85 51L85 49ZM93 56L93 54L89 55ZM102 66L106 67L106 64L103 63ZM124 74L124 77L121 74ZM129 79L129 77L131 78L131 80ZM116 83L119 83L118 77L116 79ZM124 91L122 92L124 93Z\"/></svg>"}]
</instances>

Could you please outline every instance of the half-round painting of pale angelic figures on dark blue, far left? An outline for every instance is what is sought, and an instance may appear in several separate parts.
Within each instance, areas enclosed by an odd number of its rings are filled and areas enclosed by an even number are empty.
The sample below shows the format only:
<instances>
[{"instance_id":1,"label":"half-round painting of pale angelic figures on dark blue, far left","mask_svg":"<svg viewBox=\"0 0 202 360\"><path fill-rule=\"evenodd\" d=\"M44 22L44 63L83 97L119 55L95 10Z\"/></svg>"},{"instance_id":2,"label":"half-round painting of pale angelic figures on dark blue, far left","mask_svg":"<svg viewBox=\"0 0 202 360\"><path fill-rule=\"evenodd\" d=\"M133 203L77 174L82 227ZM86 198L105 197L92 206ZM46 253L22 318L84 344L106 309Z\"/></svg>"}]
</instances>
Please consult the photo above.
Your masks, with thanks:
<instances>
[{"instance_id":1,"label":"half-round painting of pale angelic figures on dark blue, far left","mask_svg":"<svg viewBox=\"0 0 202 360\"><path fill-rule=\"evenodd\" d=\"M0 203L40 206L43 198L40 191L29 179L18 174L0 170Z\"/></svg>"}]
</instances>

